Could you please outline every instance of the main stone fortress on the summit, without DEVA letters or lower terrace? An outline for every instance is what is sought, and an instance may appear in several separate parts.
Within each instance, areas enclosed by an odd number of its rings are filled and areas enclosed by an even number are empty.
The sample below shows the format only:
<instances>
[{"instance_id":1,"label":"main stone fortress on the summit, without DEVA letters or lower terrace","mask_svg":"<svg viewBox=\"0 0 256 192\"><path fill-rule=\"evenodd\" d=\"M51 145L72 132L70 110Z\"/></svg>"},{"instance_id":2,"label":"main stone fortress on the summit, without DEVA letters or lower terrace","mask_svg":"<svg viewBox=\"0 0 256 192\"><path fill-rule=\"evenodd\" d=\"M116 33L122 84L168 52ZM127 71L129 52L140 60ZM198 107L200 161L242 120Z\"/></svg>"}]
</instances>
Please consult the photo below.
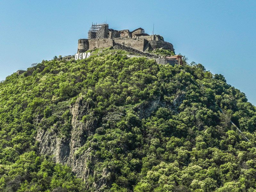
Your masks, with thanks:
<instances>
[{"instance_id":1,"label":"main stone fortress on the summit, without DEVA letters or lower terrace","mask_svg":"<svg viewBox=\"0 0 256 192\"><path fill-rule=\"evenodd\" d=\"M95 48L111 47L122 44L123 46L132 47L142 52L163 48L173 50L173 45L164 41L160 35L148 35L143 28L137 28L133 31L114 30L108 28L107 23L92 24L88 32L88 39L79 39L77 53L84 53L87 50ZM122 46L121 45L121 46Z\"/></svg>"}]
</instances>

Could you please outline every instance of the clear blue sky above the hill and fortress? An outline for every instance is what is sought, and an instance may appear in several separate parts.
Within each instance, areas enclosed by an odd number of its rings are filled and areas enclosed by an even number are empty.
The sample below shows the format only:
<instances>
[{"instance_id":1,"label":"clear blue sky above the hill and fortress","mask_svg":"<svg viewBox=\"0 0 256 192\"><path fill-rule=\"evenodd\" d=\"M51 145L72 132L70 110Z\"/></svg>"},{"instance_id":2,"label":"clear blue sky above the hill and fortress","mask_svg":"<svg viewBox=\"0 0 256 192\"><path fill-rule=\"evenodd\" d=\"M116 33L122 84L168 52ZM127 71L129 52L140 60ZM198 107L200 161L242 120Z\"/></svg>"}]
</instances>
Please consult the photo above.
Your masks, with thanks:
<instances>
[{"instance_id":1,"label":"clear blue sky above the hill and fortress","mask_svg":"<svg viewBox=\"0 0 256 192\"><path fill-rule=\"evenodd\" d=\"M225 76L256 105L256 1L0 1L0 80L55 55L73 55L92 22L144 28L175 52Z\"/></svg>"}]
</instances>

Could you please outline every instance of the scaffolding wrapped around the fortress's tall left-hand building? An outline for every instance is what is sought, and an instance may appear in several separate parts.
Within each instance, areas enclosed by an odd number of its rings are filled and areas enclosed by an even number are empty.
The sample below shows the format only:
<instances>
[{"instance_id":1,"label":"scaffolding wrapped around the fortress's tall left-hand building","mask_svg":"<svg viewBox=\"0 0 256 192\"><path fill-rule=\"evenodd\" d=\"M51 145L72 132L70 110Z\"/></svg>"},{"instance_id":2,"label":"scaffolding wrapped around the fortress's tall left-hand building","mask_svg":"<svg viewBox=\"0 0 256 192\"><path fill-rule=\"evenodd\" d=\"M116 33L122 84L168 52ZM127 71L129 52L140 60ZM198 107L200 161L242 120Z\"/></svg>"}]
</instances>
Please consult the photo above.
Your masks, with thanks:
<instances>
[{"instance_id":1,"label":"scaffolding wrapped around the fortress's tall left-hand building","mask_svg":"<svg viewBox=\"0 0 256 192\"><path fill-rule=\"evenodd\" d=\"M103 39L108 38L108 24L100 23L93 24L90 30L88 31L88 39Z\"/></svg>"}]
</instances>

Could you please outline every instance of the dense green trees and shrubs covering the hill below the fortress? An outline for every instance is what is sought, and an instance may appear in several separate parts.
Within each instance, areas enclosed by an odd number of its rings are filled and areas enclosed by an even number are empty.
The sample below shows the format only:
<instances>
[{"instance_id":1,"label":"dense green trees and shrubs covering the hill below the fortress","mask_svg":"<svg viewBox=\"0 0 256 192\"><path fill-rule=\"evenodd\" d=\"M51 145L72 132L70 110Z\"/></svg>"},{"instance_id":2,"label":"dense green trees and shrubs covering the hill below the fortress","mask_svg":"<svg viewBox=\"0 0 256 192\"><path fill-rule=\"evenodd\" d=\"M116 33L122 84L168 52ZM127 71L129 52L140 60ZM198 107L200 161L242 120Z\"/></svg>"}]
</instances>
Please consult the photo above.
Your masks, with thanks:
<instances>
[{"instance_id":1,"label":"dense green trees and shrubs covering the hill below the fortress","mask_svg":"<svg viewBox=\"0 0 256 192\"><path fill-rule=\"evenodd\" d=\"M0 191L94 191L103 169L106 192L256 191L256 109L244 93L201 64L99 54L42 61L0 83ZM35 139L39 129L69 139L77 98L90 106L81 121L97 120L76 152L97 159L85 181L39 154Z\"/></svg>"}]
</instances>

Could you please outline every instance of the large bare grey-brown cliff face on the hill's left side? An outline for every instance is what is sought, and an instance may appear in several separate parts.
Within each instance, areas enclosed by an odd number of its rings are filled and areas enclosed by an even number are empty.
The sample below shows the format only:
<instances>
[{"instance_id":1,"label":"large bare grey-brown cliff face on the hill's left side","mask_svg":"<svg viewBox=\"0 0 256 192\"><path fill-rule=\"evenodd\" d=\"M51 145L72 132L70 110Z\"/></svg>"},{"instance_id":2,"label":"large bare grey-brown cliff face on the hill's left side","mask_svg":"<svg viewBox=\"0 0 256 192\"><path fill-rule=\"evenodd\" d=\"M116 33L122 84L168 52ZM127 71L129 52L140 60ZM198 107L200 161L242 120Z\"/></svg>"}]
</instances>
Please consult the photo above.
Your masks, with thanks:
<instances>
[{"instance_id":1,"label":"large bare grey-brown cliff face on the hill's left side","mask_svg":"<svg viewBox=\"0 0 256 192\"><path fill-rule=\"evenodd\" d=\"M100 161L93 158L90 153L92 148L87 148L77 155L78 150L83 147L86 138L92 135L97 128L97 120L90 112L89 103L78 98L73 106L70 106L72 117L72 128L70 139L61 137L58 129L38 129L36 140L39 141L39 152L53 156L56 163L67 164L72 168L77 177L84 180L94 176L94 171L88 167L88 162ZM86 122L82 121L83 116L88 115ZM53 131L55 130L55 131ZM103 188L107 184L110 172L105 169L102 177L94 183L96 189Z\"/></svg>"}]
</instances>

